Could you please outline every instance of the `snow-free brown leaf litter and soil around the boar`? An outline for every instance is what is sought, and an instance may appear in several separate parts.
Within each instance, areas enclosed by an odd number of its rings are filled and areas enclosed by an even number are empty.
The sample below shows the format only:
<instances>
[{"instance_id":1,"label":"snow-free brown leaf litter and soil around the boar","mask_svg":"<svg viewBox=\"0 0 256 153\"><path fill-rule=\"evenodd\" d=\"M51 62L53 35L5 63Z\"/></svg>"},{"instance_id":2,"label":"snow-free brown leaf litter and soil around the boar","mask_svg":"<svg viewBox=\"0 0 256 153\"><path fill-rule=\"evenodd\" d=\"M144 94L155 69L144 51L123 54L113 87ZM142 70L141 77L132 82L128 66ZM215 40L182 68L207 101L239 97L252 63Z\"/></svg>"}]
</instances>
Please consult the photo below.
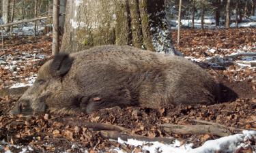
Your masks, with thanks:
<instances>
[{"instance_id":1,"label":"snow-free brown leaf litter and soil around the boar","mask_svg":"<svg viewBox=\"0 0 256 153\"><path fill-rule=\"evenodd\" d=\"M254 34L253 34L254 33ZM256 47L256 29L217 29L217 30L184 30L182 31L182 44L177 47L186 56L195 58L212 56L207 53L207 47L216 47L218 54L231 54L233 50ZM173 39L177 33L173 32ZM32 39L32 38L30 38ZM40 53L51 54L51 37L38 37L36 40L29 38L16 38L6 40L8 46L5 53L20 54L40 50ZM202 47L203 46L203 47ZM195 49L192 49L195 48ZM14 50L17 50L14 52ZM255 49L248 50L256 52ZM29 77L31 72L36 73L45 60L35 61L33 65L25 67L14 77L12 72L0 69L1 88L22 82ZM26 118L24 116L9 116L8 111L16 103L18 97L0 97L0 140L13 144L1 143L4 148L0 152L11 150L20 152L18 146L30 146L33 150L27 152L110 152L113 147L119 147L126 152L132 152L132 146L120 146L115 141L109 141L101 137L99 131L92 131L83 126L84 122L99 122L114 124L130 129L132 133L146 137L174 137L182 143L194 143L194 147L209 139L218 138L216 135L178 135L165 131L160 124L198 124L193 120L205 120L232 127L231 133L239 133L241 130L256 131L256 70L254 68L240 68L231 65L225 70L207 69L217 80L234 90L238 97L228 103L215 105L170 105L162 109L147 109L141 107L114 107L102 109L93 114L77 114L76 116L57 116L55 114L42 114ZM229 95L230 96L230 95ZM255 142L253 142L255 143ZM242 151L241 151L242 152Z\"/></svg>"}]
</instances>

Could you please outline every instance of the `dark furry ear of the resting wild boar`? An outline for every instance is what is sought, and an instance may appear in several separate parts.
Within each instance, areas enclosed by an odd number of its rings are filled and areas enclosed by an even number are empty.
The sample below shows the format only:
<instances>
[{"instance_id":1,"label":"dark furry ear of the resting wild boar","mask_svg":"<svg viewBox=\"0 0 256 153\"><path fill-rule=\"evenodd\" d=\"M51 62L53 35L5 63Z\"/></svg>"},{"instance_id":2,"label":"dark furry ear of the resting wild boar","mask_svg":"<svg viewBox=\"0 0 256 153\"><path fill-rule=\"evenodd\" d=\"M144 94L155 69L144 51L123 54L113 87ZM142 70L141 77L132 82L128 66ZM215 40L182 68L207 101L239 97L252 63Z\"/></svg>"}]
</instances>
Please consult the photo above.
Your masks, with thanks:
<instances>
[{"instance_id":1,"label":"dark furry ear of the resting wild boar","mask_svg":"<svg viewBox=\"0 0 256 153\"><path fill-rule=\"evenodd\" d=\"M50 65L51 73L56 77L62 77L68 73L74 58L71 58L68 54L57 54L54 56Z\"/></svg>"}]
</instances>

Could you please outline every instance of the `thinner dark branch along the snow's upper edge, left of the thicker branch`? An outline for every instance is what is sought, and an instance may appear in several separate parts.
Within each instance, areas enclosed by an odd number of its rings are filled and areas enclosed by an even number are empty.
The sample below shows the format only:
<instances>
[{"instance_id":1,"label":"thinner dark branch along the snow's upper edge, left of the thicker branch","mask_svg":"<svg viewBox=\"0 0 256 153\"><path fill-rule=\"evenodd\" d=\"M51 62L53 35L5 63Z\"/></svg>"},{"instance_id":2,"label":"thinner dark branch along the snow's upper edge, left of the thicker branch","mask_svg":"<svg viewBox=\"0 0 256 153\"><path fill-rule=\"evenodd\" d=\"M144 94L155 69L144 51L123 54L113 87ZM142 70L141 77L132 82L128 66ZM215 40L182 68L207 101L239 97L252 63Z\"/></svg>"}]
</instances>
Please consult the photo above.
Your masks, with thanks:
<instances>
[{"instance_id":1,"label":"thinner dark branch along the snow's upper edge, left of the thicker branch","mask_svg":"<svg viewBox=\"0 0 256 153\"><path fill-rule=\"evenodd\" d=\"M118 138L122 139L123 141L128 141L128 139L136 139L139 141L147 141L147 142L162 142L167 144L172 144L175 139L173 138L165 138L165 137L144 137L141 135L127 135L124 133L119 133L117 131L100 131L100 135L106 139L115 139L118 140Z\"/></svg>"}]
</instances>

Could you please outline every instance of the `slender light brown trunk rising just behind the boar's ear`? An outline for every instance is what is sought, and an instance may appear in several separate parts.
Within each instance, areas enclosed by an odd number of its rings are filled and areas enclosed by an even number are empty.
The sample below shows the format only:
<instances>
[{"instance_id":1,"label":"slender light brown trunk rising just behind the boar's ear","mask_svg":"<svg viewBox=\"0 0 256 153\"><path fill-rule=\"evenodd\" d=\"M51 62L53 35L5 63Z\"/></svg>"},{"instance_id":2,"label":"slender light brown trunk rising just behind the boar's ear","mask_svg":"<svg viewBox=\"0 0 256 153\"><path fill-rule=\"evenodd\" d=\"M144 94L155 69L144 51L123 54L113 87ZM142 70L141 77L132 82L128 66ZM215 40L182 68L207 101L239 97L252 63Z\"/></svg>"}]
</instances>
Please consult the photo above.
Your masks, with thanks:
<instances>
[{"instance_id":1,"label":"slender light brown trunk rising just behind the boar's ear","mask_svg":"<svg viewBox=\"0 0 256 153\"><path fill-rule=\"evenodd\" d=\"M59 53L59 0L53 1L53 48L52 54Z\"/></svg>"}]
</instances>

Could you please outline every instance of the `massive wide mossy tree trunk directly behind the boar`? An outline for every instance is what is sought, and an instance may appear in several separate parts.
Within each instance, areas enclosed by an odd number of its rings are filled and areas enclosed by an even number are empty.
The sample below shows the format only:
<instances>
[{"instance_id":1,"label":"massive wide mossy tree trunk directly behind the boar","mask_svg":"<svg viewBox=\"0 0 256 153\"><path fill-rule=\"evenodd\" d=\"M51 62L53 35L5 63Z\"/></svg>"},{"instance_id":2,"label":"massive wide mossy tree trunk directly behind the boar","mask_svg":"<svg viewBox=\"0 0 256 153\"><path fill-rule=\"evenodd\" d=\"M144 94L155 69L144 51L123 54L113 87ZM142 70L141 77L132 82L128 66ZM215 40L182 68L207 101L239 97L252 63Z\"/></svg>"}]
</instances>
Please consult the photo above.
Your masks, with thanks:
<instances>
[{"instance_id":1,"label":"massive wide mossy tree trunk directly behind the boar","mask_svg":"<svg viewBox=\"0 0 256 153\"><path fill-rule=\"evenodd\" d=\"M67 1L61 51L104 44L175 54L165 0Z\"/></svg>"}]
</instances>

